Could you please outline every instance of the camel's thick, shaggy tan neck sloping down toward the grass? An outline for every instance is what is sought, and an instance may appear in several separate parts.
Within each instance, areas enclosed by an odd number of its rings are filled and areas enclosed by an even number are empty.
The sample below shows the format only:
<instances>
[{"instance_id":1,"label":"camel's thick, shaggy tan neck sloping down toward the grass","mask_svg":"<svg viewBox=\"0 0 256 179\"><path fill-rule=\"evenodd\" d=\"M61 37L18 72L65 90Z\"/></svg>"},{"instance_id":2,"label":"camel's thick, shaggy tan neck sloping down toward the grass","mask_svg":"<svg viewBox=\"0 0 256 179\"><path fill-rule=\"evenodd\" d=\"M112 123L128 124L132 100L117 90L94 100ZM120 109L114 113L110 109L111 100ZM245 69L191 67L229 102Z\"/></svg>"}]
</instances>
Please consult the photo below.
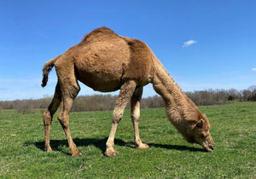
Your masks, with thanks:
<instances>
[{"instance_id":1,"label":"camel's thick, shaggy tan neck sloping down toward the grass","mask_svg":"<svg viewBox=\"0 0 256 179\"><path fill-rule=\"evenodd\" d=\"M166 113L172 124L183 123L184 120L196 120L199 110L187 95L174 83L165 68L157 64L154 69L154 90L162 96L166 103Z\"/></svg>"}]
</instances>

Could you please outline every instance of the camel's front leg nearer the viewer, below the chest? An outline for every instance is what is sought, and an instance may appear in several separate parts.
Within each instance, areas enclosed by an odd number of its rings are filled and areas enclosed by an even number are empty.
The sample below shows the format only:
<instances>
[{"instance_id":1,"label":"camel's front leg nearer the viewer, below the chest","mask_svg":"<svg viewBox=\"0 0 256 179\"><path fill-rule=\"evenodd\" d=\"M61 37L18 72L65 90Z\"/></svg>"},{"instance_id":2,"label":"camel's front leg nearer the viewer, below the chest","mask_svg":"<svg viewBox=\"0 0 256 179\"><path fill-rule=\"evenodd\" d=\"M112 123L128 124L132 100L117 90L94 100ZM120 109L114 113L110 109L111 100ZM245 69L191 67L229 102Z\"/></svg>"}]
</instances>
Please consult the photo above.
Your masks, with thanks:
<instances>
[{"instance_id":1,"label":"camel's front leg nearer the viewer, below the chest","mask_svg":"<svg viewBox=\"0 0 256 179\"><path fill-rule=\"evenodd\" d=\"M123 118L125 107L130 101L131 95L133 94L135 88L136 83L134 81L127 81L120 88L119 97L113 109L113 124L108 137L108 141L106 143L107 149L104 153L108 157L113 157L118 154L118 152L113 149L115 132L118 127L119 121Z\"/></svg>"}]
</instances>

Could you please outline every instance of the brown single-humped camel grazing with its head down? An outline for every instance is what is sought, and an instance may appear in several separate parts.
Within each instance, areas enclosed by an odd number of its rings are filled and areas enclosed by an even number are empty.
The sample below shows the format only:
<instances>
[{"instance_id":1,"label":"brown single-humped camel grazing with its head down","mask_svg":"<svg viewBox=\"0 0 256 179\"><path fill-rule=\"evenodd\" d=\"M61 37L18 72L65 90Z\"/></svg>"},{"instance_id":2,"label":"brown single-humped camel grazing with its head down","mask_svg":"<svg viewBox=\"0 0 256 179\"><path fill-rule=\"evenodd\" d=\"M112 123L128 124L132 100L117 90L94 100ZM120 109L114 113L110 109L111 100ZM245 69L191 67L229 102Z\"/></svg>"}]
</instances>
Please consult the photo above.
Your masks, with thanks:
<instances>
[{"instance_id":1,"label":"brown single-humped camel grazing with its head down","mask_svg":"<svg viewBox=\"0 0 256 179\"><path fill-rule=\"evenodd\" d=\"M113 149L114 136L130 99L135 144L140 149L148 148L141 141L138 130L143 86L148 83L152 83L154 90L163 97L166 114L183 137L189 142L199 143L206 151L213 150L214 143L206 115L177 87L146 43L119 36L107 27L101 27L87 34L80 43L67 49L63 55L45 63L43 87L47 84L48 74L53 66L58 83L54 98L43 114L47 152L52 151L49 146L52 117L61 104L58 119L67 136L71 153L73 156L82 154L74 144L68 126L68 114L80 90L78 80L97 91L119 90L104 153L108 157L118 154Z\"/></svg>"}]
</instances>

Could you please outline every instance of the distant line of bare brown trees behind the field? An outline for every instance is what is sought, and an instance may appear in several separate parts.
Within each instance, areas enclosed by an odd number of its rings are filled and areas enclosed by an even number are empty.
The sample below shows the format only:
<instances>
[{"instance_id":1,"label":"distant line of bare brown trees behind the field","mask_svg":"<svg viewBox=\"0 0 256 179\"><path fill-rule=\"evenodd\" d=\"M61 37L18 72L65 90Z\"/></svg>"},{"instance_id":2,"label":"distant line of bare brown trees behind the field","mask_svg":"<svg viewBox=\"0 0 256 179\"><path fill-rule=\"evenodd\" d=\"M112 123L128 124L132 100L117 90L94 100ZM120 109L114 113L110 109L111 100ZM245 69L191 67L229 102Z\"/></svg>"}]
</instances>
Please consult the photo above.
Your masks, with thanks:
<instances>
[{"instance_id":1,"label":"distant line of bare brown trees behind the field","mask_svg":"<svg viewBox=\"0 0 256 179\"><path fill-rule=\"evenodd\" d=\"M247 90L195 90L186 92L196 105L224 104L227 101L256 101L256 85ZM73 112L83 111L107 111L113 110L117 95L79 95L73 102ZM51 97L39 100L15 100L0 101L0 112L2 109L15 109L18 113L35 113L37 108L49 106ZM141 108L165 107L164 101L159 95L143 98ZM130 108L130 104L127 106Z\"/></svg>"}]
</instances>

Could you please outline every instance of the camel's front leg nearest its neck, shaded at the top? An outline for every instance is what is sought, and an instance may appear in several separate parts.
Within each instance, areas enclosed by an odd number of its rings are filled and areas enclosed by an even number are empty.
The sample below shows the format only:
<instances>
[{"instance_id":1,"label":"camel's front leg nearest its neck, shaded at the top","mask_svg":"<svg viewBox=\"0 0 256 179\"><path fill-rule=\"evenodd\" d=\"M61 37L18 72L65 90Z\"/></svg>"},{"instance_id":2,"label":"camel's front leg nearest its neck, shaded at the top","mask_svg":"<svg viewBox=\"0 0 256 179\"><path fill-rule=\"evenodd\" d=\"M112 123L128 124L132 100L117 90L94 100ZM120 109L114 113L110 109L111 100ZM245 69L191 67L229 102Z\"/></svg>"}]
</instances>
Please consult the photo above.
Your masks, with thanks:
<instances>
[{"instance_id":1,"label":"camel's front leg nearest its neck, shaded at the top","mask_svg":"<svg viewBox=\"0 0 256 179\"><path fill-rule=\"evenodd\" d=\"M140 101L143 95L143 88L134 91L131 97L131 119L134 129L134 141L138 149L148 148L148 145L143 143L139 136L138 121L140 118Z\"/></svg>"}]
</instances>

